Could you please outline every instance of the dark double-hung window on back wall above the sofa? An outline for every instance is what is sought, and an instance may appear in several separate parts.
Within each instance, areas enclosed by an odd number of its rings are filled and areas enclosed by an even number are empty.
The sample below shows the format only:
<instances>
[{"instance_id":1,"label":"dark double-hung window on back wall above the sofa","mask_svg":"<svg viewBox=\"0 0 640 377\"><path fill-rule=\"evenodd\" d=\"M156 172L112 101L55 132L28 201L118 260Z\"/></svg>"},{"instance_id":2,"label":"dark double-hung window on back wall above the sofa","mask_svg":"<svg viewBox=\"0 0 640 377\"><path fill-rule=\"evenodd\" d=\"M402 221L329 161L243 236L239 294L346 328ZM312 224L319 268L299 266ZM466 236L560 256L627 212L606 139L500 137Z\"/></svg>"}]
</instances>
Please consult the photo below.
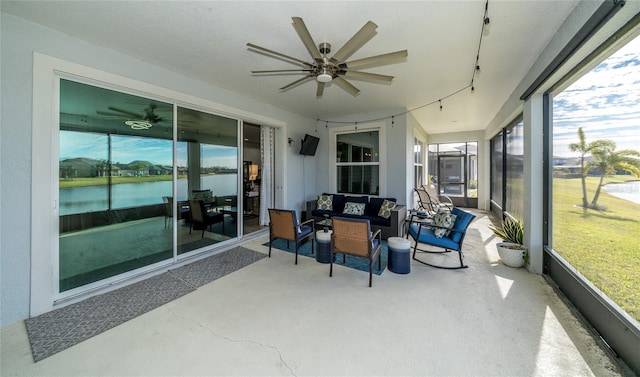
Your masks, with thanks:
<instances>
[{"instance_id":1,"label":"dark double-hung window on back wall above the sofa","mask_svg":"<svg viewBox=\"0 0 640 377\"><path fill-rule=\"evenodd\" d=\"M380 132L336 135L336 184L339 193L379 195Z\"/></svg>"}]
</instances>

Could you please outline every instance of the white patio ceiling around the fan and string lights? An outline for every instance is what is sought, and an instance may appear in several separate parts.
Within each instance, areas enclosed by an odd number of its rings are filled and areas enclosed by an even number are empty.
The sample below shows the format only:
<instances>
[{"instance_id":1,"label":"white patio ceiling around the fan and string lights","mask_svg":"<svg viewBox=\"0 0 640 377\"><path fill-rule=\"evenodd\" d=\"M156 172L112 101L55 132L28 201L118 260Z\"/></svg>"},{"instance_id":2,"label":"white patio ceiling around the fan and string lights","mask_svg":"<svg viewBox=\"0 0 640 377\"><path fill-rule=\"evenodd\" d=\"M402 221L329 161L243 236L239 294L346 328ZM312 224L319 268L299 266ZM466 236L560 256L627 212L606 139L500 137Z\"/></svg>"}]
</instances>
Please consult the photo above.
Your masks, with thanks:
<instances>
[{"instance_id":1,"label":"white patio ceiling around the fan and string lights","mask_svg":"<svg viewBox=\"0 0 640 377\"><path fill-rule=\"evenodd\" d=\"M489 2L489 35L481 75L471 82L482 19L481 1L2 1L2 11L137 57L150 64L242 93L312 119L366 114L413 116L428 133L481 130L494 118L561 23L577 4L566 1ZM316 98L302 76L255 77L252 70L298 68L249 51L247 42L311 61L291 17L302 17L316 44L337 51L367 21L377 35L349 60L408 50L406 62L365 71L395 76L389 84L352 80L353 97L335 85ZM361 115L365 114L365 115Z\"/></svg>"}]
</instances>

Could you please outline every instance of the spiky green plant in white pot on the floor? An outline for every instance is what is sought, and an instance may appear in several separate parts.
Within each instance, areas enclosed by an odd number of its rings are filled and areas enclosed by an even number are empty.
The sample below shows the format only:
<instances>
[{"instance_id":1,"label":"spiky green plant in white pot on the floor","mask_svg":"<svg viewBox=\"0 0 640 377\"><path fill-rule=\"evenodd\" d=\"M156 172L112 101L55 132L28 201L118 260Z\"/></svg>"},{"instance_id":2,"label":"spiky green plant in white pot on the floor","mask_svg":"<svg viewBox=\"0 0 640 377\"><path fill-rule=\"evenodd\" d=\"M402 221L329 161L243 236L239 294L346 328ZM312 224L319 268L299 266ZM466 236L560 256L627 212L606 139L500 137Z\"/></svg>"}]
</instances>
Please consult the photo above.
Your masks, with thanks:
<instances>
[{"instance_id":1,"label":"spiky green plant in white pot on the floor","mask_svg":"<svg viewBox=\"0 0 640 377\"><path fill-rule=\"evenodd\" d=\"M496 247L502 263L509 267L522 267L529 259L527 248L524 247L524 224L520 220L506 217L500 227L489 227L493 234L500 237Z\"/></svg>"}]
</instances>

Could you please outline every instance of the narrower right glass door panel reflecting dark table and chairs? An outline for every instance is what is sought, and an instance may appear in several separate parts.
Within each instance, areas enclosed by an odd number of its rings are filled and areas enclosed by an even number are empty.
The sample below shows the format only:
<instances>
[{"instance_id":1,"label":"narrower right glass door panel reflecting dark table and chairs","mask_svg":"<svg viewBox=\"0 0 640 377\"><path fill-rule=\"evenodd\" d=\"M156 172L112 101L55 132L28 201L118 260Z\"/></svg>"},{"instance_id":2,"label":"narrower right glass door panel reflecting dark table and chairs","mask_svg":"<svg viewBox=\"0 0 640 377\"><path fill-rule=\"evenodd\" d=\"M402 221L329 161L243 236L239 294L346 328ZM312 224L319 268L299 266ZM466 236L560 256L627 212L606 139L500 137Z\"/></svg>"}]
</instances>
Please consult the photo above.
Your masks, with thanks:
<instances>
[{"instance_id":1,"label":"narrower right glass door panel reflecting dark table and chairs","mask_svg":"<svg viewBox=\"0 0 640 377\"><path fill-rule=\"evenodd\" d=\"M238 121L178 107L178 254L238 235ZM242 217L240 217L242 219Z\"/></svg>"}]
</instances>

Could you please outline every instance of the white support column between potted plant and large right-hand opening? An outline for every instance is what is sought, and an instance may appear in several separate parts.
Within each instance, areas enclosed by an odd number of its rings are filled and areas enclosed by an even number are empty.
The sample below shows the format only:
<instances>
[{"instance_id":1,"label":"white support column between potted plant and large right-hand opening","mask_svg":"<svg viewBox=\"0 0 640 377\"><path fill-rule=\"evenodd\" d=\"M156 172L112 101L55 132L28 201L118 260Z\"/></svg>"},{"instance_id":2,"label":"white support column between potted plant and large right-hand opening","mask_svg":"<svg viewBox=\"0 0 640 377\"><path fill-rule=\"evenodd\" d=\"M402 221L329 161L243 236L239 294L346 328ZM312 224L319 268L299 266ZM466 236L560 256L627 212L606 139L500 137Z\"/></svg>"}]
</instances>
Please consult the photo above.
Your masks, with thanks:
<instances>
[{"instance_id":1,"label":"white support column between potted plant and large right-hand opening","mask_svg":"<svg viewBox=\"0 0 640 377\"><path fill-rule=\"evenodd\" d=\"M543 96L524 103L524 244L529 272L542 273L543 246Z\"/></svg>"}]
</instances>

